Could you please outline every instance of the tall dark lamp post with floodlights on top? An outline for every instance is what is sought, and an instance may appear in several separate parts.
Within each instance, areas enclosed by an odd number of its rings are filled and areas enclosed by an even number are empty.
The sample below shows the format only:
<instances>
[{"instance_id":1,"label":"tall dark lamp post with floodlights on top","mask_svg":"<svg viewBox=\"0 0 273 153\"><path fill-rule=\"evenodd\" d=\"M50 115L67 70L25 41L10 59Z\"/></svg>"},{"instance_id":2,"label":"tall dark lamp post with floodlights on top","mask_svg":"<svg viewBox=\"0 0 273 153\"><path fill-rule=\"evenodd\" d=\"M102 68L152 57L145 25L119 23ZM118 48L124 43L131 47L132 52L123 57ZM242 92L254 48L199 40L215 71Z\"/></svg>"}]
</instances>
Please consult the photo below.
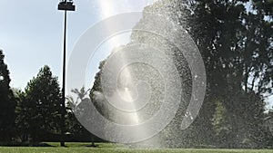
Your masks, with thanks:
<instances>
[{"instance_id":1,"label":"tall dark lamp post with floodlights on top","mask_svg":"<svg viewBox=\"0 0 273 153\"><path fill-rule=\"evenodd\" d=\"M58 4L58 10L65 11L65 27L64 27L64 62L63 62L63 89L62 89L62 123L61 123L61 142L60 146L65 147L65 131L66 131L66 12L75 11L73 0L61 0Z\"/></svg>"}]
</instances>

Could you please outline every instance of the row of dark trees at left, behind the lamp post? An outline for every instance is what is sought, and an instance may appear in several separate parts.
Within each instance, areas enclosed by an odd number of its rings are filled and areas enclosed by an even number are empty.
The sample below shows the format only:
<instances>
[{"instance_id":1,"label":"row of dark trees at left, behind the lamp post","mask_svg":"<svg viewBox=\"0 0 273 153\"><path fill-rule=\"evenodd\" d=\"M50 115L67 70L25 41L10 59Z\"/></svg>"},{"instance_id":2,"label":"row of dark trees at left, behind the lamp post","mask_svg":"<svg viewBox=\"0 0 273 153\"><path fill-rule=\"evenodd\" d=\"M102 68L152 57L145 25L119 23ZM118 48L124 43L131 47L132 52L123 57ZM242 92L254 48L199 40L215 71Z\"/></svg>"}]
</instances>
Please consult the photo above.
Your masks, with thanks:
<instances>
[{"instance_id":1,"label":"row of dark trees at left, behind the lamp post","mask_svg":"<svg viewBox=\"0 0 273 153\"><path fill-rule=\"evenodd\" d=\"M45 65L28 81L25 90L11 88L4 53L0 51L0 142L58 141L61 139L62 93L57 77ZM82 89L84 90L84 89ZM76 92L77 96L81 92ZM93 135L76 120L66 103L66 141L91 141Z\"/></svg>"}]
</instances>

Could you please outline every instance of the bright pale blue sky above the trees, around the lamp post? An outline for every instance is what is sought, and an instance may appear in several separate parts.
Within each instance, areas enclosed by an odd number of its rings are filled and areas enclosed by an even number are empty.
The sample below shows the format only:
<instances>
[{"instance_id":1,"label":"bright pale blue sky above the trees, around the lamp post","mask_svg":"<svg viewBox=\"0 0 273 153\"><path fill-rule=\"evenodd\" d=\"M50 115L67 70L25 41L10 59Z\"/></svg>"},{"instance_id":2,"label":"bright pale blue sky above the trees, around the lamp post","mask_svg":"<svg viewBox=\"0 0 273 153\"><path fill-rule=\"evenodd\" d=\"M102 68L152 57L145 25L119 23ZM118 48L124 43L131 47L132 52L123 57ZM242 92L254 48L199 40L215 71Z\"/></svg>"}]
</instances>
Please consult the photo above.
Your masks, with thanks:
<instances>
[{"instance_id":1,"label":"bright pale blue sky above the trees, around the lamp post","mask_svg":"<svg viewBox=\"0 0 273 153\"><path fill-rule=\"evenodd\" d=\"M154 1L76 0L76 12L67 14L66 59L81 34L93 24L111 15L142 11ZM58 0L0 0L0 49L5 53L12 87L23 90L45 64L62 84L64 13L57 10L58 3ZM97 61L105 56L100 58ZM91 83L86 88L91 88L97 67L98 63L89 65Z\"/></svg>"}]
</instances>

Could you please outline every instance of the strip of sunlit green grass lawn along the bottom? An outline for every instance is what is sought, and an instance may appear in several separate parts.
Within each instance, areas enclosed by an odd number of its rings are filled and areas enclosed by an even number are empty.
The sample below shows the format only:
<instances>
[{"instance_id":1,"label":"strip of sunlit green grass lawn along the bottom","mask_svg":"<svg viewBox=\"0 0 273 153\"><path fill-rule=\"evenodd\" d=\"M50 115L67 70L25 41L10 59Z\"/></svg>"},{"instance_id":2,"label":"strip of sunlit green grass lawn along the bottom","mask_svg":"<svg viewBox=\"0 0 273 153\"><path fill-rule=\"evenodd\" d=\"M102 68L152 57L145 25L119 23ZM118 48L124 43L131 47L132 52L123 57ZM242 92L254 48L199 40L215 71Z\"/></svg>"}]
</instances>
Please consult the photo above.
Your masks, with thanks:
<instances>
[{"instance_id":1,"label":"strip of sunlit green grass lawn along the bottom","mask_svg":"<svg viewBox=\"0 0 273 153\"><path fill-rule=\"evenodd\" d=\"M0 153L273 153L271 149L194 149L194 148L128 148L113 143L98 143L97 148L86 147L89 143L66 143L60 148L58 143L48 142L52 147L0 147Z\"/></svg>"}]
</instances>

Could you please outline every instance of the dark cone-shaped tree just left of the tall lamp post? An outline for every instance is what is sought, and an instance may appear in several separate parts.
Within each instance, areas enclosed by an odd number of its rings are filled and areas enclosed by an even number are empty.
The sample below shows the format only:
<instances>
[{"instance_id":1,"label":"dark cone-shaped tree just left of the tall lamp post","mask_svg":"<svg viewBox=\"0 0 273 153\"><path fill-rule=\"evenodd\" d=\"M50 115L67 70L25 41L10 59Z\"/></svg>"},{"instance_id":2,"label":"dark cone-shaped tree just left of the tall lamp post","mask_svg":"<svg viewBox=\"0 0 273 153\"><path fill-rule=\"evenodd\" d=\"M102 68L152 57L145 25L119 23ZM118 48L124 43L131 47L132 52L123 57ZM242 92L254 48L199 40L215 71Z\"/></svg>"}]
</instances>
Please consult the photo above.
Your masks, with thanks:
<instances>
[{"instance_id":1,"label":"dark cone-shaped tree just left of the tall lamp post","mask_svg":"<svg viewBox=\"0 0 273 153\"><path fill-rule=\"evenodd\" d=\"M24 109L28 111L27 123L33 141L45 133L59 132L62 109L61 92L57 78L45 65L25 88Z\"/></svg>"}]
</instances>

